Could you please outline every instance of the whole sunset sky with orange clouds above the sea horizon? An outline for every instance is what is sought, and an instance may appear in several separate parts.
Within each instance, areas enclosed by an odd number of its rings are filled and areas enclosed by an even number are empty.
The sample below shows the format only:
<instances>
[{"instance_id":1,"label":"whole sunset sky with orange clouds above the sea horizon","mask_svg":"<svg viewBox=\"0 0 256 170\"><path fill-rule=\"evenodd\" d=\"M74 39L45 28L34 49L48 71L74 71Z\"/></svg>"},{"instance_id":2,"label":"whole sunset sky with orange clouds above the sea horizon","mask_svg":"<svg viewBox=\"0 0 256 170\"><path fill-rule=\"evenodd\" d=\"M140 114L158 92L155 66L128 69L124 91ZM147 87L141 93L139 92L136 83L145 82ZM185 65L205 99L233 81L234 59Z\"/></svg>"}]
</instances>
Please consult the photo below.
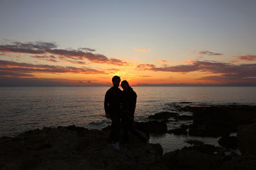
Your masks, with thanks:
<instances>
[{"instance_id":1,"label":"whole sunset sky with orange clouds above the sea horizon","mask_svg":"<svg viewBox=\"0 0 256 170\"><path fill-rule=\"evenodd\" d=\"M0 0L0 86L256 86L255 7Z\"/></svg>"}]
</instances>

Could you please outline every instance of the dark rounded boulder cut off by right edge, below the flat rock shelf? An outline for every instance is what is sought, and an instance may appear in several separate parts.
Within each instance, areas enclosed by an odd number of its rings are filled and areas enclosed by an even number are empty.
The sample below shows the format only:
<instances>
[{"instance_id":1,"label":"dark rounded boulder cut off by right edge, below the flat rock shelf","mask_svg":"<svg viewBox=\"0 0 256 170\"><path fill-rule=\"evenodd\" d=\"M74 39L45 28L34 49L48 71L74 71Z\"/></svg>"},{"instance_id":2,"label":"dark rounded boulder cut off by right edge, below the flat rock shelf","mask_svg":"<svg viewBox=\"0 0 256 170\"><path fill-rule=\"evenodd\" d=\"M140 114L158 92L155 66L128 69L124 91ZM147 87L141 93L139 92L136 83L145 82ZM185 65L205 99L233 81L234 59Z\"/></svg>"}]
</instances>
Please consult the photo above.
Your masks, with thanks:
<instances>
[{"instance_id":1,"label":"dark rounded boulder cut off by right edge, below the flat rock shelf","mask_svg":"<svg viewBox=\"0 0 256 170\"><path fill-rule=\"evenodd\" d=\"M240 126L237 132L237 142L242 154L256 155L256 124Z\"/></svg>"}]
</instances>

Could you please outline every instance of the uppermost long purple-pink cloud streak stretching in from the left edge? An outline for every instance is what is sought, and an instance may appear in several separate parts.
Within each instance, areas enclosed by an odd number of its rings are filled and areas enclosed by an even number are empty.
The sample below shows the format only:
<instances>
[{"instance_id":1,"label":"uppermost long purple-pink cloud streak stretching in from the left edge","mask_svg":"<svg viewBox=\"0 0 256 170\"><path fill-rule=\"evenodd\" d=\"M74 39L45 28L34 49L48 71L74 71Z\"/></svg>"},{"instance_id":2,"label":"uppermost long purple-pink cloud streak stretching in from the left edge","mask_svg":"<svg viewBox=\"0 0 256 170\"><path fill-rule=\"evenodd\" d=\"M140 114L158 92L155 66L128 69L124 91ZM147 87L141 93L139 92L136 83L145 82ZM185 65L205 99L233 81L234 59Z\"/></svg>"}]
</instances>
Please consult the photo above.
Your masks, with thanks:
<instances>
[{"instance_id":1,"label":"uppermost long purple-pink cloud streak stretching in from the left edge","mask_svg":"<svg viewBox=\"0 0 256 170\"><path fill-rule=\"evenodd\" d=\"M31 57L36 57L40 59L45 59L47 57L54 56L61 60L84 60L87 59L90 62L102 63L102 64L113 64L117 66L126 66L127 62L124 62L120 59L108 59L105 55L92 53L95 50L90 48L79 48L81 50L65 50L58 49L55 43L47 43L38 41L36 43L20 43L13 42L11 45L0 45L0 52L2 53L29 53L32 54ZM85 50L86 52L84 52ZM37 55L33 55L37 54ZM50 55L47 55L50 54ZM52 59L52 57L51 57ZM53 61L53 60L52 60Z\"/></svg>"}]
</instances>

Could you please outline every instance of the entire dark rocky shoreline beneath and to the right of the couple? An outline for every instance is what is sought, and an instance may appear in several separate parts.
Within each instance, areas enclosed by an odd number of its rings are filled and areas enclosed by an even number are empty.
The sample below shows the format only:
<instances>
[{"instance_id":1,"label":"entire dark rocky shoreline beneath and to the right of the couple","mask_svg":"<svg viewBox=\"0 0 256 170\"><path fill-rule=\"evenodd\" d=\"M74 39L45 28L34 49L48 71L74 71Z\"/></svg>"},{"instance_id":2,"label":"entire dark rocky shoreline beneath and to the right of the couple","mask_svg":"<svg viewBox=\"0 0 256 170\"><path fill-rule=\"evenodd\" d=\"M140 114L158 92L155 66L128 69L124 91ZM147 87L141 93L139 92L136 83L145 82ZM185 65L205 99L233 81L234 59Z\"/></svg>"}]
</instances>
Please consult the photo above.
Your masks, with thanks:
<instances>
[{"instance_id":1,"label":"entire dark rocky shoreline beneath and to the right of the couple","mask_svg":"<svg viewBox=\"0 0 256 170\"><path fill-rule=\"evenodd\" d=\"M151 115L148 122L134 122L134 127L148 137L166 132L218 136L221 147L187 141L192 146L163 154L161 145L145 145L129 134L131 143L116 151L107 146L109 127L101 131L75 125L44 127L0 138L0 169L255 169L256 106L177 106L177 110L192 115L165 111ZM180 120L193 123L168 129L166 122Z\"/></svg>"}]
</instances>

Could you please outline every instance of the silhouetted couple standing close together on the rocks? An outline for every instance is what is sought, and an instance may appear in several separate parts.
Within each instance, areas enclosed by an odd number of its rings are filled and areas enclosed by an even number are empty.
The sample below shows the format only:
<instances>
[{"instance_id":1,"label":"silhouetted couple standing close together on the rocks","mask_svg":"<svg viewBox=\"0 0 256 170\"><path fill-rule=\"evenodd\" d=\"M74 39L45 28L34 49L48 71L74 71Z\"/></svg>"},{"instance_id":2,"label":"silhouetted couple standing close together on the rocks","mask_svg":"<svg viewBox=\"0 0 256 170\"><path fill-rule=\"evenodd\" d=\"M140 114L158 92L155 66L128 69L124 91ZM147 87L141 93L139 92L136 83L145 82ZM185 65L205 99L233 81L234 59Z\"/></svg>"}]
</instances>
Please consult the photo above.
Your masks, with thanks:
<instances>
[{"instance_id":1,"label":"silhouetted couple standing close together on the rocks","mask_svg":"<svg viewBox=\"0 0 256 170\"><path fill-rule=\"evenodd\" d=\"M132 132L138 136L138 138L147 143L147 139L141 136L140 132L134 130L133 128L133 119L134 119L134 111L136 108L136 99L137 94L132 90L129 86L129 83L124 80L121 83L123 91L120 90L120 77L113 76L112 82L113 87L111 87L105 95L104 100L104 109L106 112L106 117L111 118L111 132L109 134L109 145L113 146L116 150L120 150L120 146L118 143L118 135L120 132L120 121L122 121L123 129L124 129L124 145L128 143L128 131Z\"/></svg>"}]
</instances>

